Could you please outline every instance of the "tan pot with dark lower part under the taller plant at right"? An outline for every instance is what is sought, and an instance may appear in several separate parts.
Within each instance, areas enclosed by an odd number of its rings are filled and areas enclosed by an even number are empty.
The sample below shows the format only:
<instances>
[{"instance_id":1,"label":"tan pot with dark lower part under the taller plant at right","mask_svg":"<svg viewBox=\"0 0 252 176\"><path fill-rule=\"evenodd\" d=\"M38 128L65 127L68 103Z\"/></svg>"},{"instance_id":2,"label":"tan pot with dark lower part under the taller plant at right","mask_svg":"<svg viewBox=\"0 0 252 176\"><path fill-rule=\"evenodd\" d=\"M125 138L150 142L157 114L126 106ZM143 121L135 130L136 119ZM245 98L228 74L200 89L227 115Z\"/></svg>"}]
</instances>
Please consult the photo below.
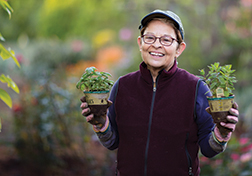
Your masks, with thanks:
<instances>
[{"instance_id":1,"label":"tan pot with dark lower part under the taller plant at right","mask_svg":"<svg viewBox=\"0 0 252 176\"><path fill-rule=\"evenodd\" d=\"M227 115L229 114L229 109L232 108L234 103L234 96L230 97L221 97L221 98L213 98L207 97L209 107L211 110L211 115L214 123L219 128L220 133L225 137L232 130L229 128L225 128L220 125L220 122L227 122Z\"/></svg>"}]
</instances>

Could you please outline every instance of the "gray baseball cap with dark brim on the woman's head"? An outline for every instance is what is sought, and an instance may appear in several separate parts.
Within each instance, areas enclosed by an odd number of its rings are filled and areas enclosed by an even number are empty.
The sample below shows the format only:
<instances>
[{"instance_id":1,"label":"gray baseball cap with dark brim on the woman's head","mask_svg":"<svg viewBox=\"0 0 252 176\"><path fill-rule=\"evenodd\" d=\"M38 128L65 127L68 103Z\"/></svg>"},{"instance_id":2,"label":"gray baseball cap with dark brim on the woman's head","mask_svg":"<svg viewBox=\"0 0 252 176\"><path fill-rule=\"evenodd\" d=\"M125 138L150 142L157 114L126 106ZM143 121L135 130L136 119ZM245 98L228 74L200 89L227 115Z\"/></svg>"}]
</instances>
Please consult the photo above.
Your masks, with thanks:
<instances>
[{"instance_id":1,"label":"gray baseball cap with dark brim on the woman's head","mask_svg":"<svg viewBox=\"0 0 252 176\"><path fill-rule=\"evenodd\" d=\"M177 29L180 31L182 39L184 39L185 32L184 32L182 22L181 22L179 16L176 15L175 13L173 13L172 11L154 10L153 12L151 12L143 17L143 19L141 20L141 24L139 26L139 29L141 30L153 18L169 18L169 19L173 20L176 24Z\"/></svg>"}]
</instances>

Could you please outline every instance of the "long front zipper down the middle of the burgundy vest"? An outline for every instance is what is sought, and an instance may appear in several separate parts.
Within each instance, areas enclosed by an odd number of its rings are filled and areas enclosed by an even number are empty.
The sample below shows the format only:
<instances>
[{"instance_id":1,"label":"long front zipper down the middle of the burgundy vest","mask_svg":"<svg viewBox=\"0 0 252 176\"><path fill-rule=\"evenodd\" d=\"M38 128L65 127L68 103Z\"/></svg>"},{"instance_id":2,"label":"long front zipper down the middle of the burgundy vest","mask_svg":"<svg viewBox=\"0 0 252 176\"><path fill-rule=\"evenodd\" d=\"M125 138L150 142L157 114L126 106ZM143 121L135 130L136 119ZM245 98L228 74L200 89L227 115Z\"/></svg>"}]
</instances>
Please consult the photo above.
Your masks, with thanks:
<instances>
[{"instance_id":1,"label":"long front zipper down the middle of the burgundy vest","mask_svg":"<svg viewBox=\"0 0 252 176\"><path fill-rule=\"evenodd\" d=\"M145 158L144 158L144 176L147 176L148 151L149 151L151 124L152 124L153 108L154 108L154 101L155 101L156 90L157 90L158 77L156 79L156 82L153 82L153 94L152 94L152 101L151 101L149 126L148 126L148 136L147 136L147 142L146 142L146 148L145 148Z\"/></svg>"}]
</instances>

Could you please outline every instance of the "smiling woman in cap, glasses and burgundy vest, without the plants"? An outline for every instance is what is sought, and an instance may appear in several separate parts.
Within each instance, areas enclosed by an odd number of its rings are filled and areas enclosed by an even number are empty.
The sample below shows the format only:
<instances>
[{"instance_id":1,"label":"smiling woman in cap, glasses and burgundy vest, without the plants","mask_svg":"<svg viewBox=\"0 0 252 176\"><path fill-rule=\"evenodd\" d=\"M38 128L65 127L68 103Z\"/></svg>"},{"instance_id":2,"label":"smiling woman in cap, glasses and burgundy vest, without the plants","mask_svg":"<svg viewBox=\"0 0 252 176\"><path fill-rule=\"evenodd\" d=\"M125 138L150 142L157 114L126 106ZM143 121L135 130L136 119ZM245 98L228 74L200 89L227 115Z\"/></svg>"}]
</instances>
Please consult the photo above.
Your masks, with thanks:
<instances>
[{"instance_id":1,"label":"smiling woman in cap, glasses and burgundy vest, without the plants","mask_svg":"<svg viewBox=\"0 0 252 176\"><path fill-rule=\"evenodd\" d=\"M198 176L199 148L213 157L224 151L231 132L222 137L205 110L208 87L177 67L186 48L180 18L155 10L139 29L140 69L115 83L106 123L101 129L94 125L94 131L105 147L118 149L120 176ZM85 98L82 102L82 114L90 121L93 114ZM234 104L227 119L237 123L238 114ZM234 130L235 123L222 125Z\"/></svg>"}]
</instances>

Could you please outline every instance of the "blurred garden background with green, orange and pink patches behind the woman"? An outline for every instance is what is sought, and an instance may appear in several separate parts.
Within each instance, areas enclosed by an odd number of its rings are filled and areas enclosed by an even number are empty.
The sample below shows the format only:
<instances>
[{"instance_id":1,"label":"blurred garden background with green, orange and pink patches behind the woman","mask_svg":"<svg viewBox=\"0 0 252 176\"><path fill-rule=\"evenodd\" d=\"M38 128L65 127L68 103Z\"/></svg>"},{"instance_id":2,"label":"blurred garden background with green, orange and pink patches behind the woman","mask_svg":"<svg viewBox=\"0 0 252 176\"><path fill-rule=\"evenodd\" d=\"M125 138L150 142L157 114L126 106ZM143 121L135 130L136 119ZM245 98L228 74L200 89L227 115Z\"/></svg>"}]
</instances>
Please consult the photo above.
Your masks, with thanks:
<instances>
[{"instance_id":1,"label":"blurred garden background with green, orange and pink patches behind the woman","mask_svg":"<svg viewBox=\"0 0 252 176\"><path fill-rule=\"evenodd\" d=\"M252 0L8 0L0 7L0 43L20 63L0 59L19 94L0 82L0 175L110 176L116 151L97 141L75 88L88 66L117 80L138 69L141 18L155 9L182 19L187 48L179 67L196 75L213 62L232 64L240 121L226 151L200 155L202 176L252 175Z\"/></svg>"}]
</instances>

